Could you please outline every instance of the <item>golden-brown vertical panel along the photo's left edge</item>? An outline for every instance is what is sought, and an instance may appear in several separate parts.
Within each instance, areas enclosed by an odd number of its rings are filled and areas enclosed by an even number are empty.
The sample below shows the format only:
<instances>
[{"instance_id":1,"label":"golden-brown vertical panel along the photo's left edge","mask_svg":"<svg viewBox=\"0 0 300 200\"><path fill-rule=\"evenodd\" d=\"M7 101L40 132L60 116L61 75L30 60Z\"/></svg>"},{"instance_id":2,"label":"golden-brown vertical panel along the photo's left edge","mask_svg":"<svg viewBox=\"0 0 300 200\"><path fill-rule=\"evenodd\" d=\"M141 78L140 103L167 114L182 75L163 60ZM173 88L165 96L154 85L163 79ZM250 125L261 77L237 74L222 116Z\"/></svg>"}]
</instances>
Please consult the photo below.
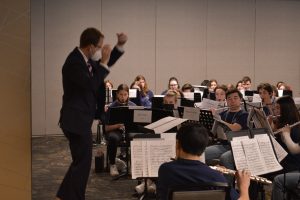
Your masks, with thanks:
<instances>
[{"instance_id":1,"label":"golden-brown vertical panel along the photo's left edge","mask_svg":"<svg viewBox=\"0 0 300 200\"><path fill-rule=\"evenodd\" d=\"M2 199L31 199L29 15L29 1L1 2L0 91L5 94L0 104Z\"/></svg>"}]
</instances>

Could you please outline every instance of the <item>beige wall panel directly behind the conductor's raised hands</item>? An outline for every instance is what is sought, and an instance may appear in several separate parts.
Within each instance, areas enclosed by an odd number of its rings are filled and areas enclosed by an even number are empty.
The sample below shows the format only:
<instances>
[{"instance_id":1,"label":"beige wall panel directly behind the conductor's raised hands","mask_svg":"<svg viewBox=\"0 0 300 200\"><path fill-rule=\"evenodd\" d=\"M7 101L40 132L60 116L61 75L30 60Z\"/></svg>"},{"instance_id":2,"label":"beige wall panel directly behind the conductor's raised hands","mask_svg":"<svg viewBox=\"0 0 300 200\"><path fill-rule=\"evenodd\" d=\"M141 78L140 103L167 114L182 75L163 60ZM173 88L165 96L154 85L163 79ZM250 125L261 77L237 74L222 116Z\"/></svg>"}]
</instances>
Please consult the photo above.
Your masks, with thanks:
<instances>
[{"instance_id":1,"label":"beige wall panel directly behind the conductor's raised hands","mask_svg":"<svg viewBox=\"0 0 300 200\"><path fill-rule=\"evenodd\" d=\"M142 74L155 92L155 1L103 0L102 7L105 43L115 45L118 32L125 32L129 38L125 54L107 79L116 88L120 83L130 86L136 75Z\"/></svg>"}]
</instances>

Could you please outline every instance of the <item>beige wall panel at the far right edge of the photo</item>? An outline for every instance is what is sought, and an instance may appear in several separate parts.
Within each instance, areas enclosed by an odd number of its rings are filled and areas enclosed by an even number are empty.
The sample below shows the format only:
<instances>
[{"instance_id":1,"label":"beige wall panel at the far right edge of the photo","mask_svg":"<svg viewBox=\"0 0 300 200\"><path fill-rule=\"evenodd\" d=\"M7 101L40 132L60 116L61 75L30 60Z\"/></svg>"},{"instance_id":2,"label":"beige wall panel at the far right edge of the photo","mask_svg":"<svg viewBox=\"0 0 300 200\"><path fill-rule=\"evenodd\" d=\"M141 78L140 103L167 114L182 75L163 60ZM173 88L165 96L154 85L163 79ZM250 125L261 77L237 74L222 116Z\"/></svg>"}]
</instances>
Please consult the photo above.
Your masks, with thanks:
<instances>
[{"instance_id":1,"label":"beige wall panel at the far right edge of the photo","mask_svg":"<svg viewBox=\"0 0 300 200\"><path fill-rule=\"evenodd\" d=\"M258 1L255 50L257 83L285 81L300 96L300 2Z\"/></svg>"}]
</instances>

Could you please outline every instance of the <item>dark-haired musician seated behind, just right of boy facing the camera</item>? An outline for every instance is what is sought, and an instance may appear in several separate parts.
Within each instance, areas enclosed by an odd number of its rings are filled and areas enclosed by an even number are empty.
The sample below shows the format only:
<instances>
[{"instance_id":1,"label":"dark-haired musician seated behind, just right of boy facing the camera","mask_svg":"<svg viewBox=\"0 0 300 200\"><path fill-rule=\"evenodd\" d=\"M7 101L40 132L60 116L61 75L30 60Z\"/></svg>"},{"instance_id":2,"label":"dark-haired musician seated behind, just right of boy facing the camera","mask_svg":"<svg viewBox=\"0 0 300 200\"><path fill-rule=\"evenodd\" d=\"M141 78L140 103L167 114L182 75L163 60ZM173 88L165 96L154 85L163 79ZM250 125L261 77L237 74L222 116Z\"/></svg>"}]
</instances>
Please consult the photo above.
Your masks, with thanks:
<instances>
[{"instance_id":1,"label":"dark-haired musician seated behind, just right of boy facing the camera","mask_svg":"<svg viewBox=\"0 0 300 200\"><path fill-rule=\"evenodd\" d=\"M269 83L261 83L257 86L257 91L262 101L263 110L266 116L273 115L275 98L273 97L273 88Z\"/></svg>"}]
</instances>

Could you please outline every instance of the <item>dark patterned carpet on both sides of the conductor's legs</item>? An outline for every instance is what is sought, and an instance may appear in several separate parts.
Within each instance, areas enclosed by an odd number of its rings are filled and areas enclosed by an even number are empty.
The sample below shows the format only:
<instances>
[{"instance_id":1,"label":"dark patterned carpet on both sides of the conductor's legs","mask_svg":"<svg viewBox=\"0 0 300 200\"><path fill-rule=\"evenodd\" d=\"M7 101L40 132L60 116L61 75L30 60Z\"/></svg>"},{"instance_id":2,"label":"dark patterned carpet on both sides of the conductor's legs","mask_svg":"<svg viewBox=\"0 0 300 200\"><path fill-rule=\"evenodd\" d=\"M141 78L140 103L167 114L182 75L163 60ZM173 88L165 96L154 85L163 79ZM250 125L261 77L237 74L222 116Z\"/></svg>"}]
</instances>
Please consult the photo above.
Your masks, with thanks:
<instances>
[{"instance_id":1,"label":"dark patterned carpet on both sides of the conductor's legs","mask_svg":"<svg viewBox=\"0 0 300 200\"><path fill-rule=\"evenodd\" d=\"M93 149L95 155L99 145ZM71 156L68 142L63 136L32 138L32 199L54 199L56 191L69 167ZM108 172L95 173L93 164L86 191L87 200L137 199L134 197L136 180L121 178L113 181Z\"/></svg>"}]
</instances>

